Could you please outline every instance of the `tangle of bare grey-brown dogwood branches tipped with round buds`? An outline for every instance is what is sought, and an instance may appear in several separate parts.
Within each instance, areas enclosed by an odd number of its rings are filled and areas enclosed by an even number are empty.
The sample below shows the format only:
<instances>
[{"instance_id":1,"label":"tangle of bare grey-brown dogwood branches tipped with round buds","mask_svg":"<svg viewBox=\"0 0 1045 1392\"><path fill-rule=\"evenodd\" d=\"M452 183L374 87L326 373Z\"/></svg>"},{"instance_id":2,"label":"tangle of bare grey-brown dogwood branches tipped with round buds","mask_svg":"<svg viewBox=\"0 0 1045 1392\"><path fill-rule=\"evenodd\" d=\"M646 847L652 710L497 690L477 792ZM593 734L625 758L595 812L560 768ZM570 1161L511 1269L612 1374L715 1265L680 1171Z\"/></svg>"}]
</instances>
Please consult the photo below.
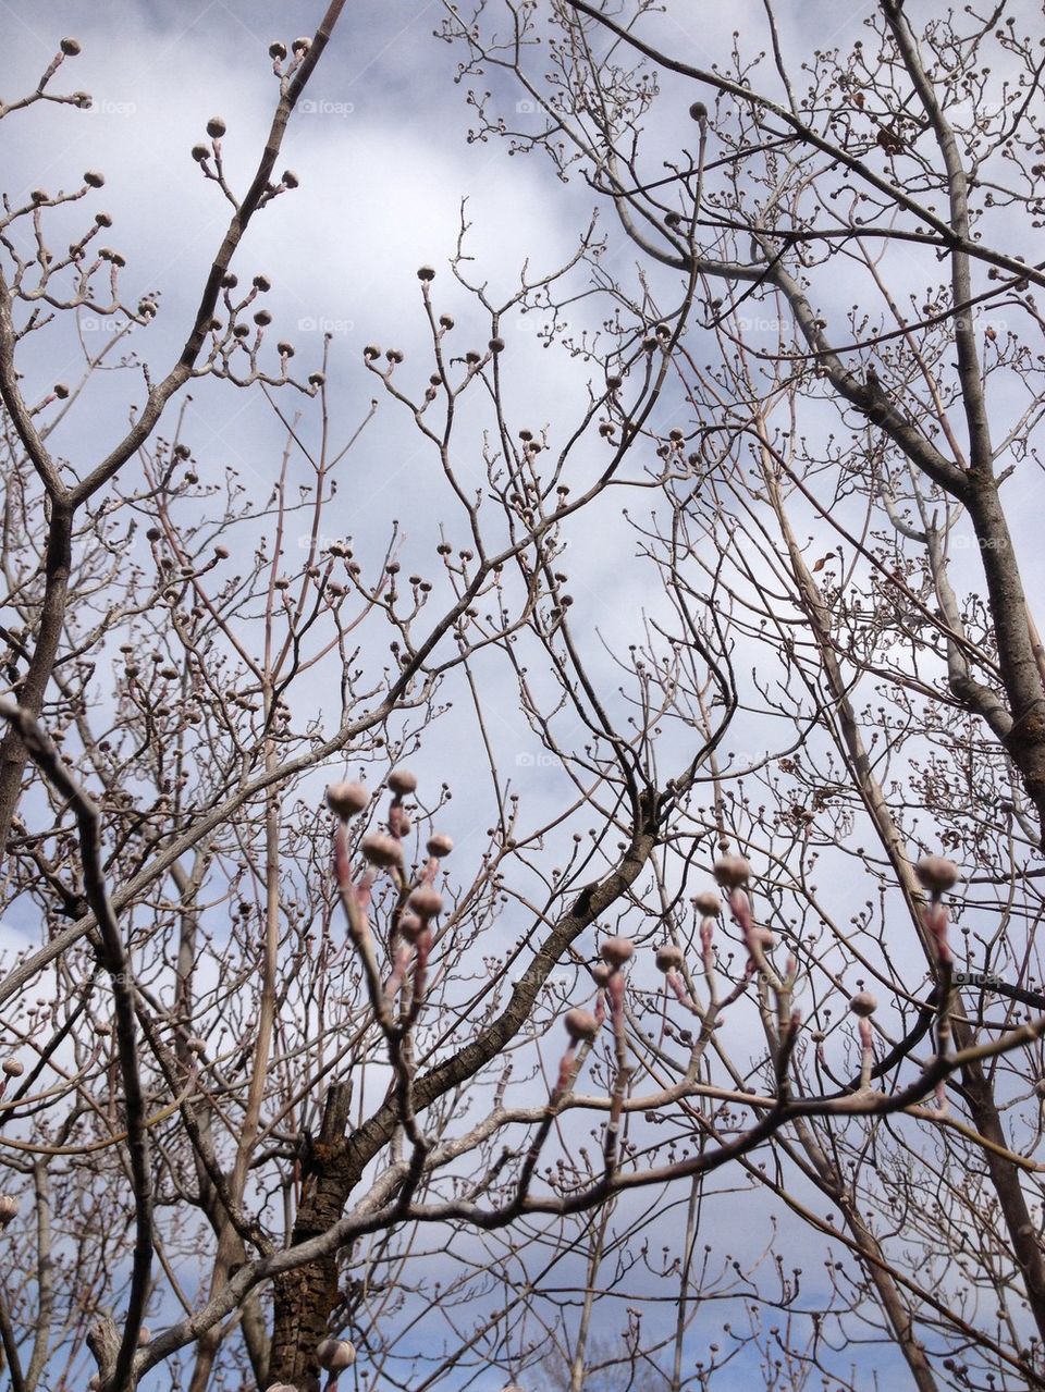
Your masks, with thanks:
<instances>
[{"instance_id":1,"label":"tangle of bare grey-brown dogwood branches tipped with round buds","mask_svg":"<svg viewBox=\"0 0 1045 1392\"><path fill-rule=\"evenodd\" d=\"M767 4L699 68L644 0L447 7L473 138L619 228L498 295L462 220L346 420L241 248L341 8L242 198L193 149L228 231L89 465L159 299L104 213L54 249L93 171L6 209L13 1386L1045 1385L1037 40ZM83 107L78 50L3 114ZM267 497L160 434L202 377Z\"/></svg>"}]
</instances>

